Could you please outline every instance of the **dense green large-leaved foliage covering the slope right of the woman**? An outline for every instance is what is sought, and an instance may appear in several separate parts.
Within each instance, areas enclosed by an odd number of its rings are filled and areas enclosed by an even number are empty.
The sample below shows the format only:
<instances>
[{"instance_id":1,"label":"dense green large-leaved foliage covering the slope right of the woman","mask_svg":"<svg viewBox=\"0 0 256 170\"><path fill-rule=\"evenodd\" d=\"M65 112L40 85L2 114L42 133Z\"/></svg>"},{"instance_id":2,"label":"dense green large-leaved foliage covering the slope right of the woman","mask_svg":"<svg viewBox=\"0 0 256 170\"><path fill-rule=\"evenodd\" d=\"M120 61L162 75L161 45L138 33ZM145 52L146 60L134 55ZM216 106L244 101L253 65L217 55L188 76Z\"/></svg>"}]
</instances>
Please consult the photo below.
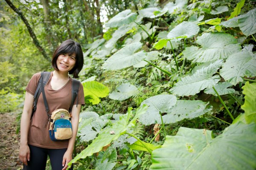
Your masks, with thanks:
<instances>
[{"instance_id":1,"label":"dense green large-leaved foliage covering the slope right of the woman","mask_svg":"<svg viewBox=\"0 0 256 170\"><path fill-rule=\"evenodd\" d=\"M255 2L99 2L115 9L108 11L106 32L96 36L98 27L87 28L86 41L85 34L72 34L84 48L79 76L86 105L70 164L79 170L255 169ZM78 4L63 18L75 16ZM8 59L3 87L19 77Z\"/></svg>"}]
</instances>

